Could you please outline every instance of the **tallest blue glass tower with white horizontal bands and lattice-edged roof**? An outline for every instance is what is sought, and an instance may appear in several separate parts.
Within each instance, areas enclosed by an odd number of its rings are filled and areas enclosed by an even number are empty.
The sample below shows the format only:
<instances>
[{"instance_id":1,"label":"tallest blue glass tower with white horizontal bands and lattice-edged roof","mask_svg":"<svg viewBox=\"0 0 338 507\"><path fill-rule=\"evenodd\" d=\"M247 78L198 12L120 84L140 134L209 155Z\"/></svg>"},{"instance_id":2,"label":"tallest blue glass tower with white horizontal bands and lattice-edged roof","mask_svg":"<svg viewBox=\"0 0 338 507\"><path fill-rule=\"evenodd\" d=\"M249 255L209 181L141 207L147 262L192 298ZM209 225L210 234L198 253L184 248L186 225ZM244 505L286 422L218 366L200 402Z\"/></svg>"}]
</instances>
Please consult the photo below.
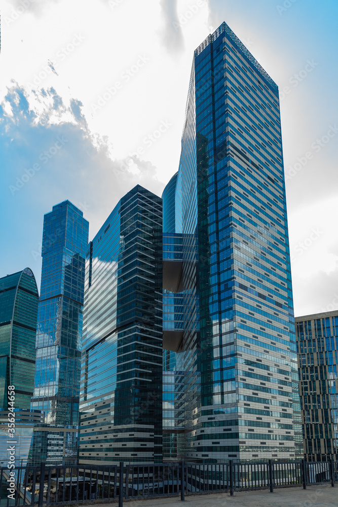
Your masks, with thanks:
<instances>
[{"instance_id":1,"label":"tallest blue glass tower with white horizontal bands and lattice-edged roof","mask_svg":"<svg viewBox=\"0 0 338 507\"><path fill-rule=\"evenodd\" d=\"M278 87L226 23L194 54L175 211L185 458L301 457Z\"/></svg>"}]
</instances>

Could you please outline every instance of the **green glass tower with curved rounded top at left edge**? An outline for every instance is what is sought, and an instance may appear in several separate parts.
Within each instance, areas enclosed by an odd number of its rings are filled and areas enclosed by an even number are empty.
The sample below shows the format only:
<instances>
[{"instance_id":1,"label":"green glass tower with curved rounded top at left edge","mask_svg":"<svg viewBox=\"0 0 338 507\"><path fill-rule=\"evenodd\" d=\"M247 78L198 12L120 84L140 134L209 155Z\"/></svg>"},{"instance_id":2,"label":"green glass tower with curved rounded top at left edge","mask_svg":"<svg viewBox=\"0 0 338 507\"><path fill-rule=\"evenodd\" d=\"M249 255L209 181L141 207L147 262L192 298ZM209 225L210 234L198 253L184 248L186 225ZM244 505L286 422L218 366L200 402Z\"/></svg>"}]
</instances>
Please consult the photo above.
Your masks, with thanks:
<instances>
[{"instance_id":1,"label":"green glass tower with curved rounded top at left edge","mask_svg":"<svg viewBox=\"0 0 338 507\"><path fill-rule=\"evenodd\" d=\"M15 386L15 407L29 409L34 387L39 294L29 268L0 278L0 408Z\"/></svg>"}]
</instances>

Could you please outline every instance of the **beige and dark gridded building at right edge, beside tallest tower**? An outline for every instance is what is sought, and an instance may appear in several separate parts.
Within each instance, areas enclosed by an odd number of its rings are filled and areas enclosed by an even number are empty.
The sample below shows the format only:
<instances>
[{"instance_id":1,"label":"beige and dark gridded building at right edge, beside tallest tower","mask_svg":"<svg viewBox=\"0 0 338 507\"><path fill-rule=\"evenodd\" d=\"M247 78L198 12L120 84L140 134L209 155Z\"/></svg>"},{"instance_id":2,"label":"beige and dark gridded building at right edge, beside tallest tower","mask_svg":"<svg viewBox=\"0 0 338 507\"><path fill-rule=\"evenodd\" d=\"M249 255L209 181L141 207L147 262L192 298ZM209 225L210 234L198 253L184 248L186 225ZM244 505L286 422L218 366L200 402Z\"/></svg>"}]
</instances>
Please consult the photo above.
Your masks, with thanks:
<instances>
[{"instance_id":1,"label":"beige and dark gridded building at right edge, beside tallest tower","mask_svg":"<svg viewBox=\"0 0 338 507\"><path fill-rule=\"evenodd\" d=\"M338 459L338 312L296 317L296 338L308 461Z\"/></svg>"}]
</instances>

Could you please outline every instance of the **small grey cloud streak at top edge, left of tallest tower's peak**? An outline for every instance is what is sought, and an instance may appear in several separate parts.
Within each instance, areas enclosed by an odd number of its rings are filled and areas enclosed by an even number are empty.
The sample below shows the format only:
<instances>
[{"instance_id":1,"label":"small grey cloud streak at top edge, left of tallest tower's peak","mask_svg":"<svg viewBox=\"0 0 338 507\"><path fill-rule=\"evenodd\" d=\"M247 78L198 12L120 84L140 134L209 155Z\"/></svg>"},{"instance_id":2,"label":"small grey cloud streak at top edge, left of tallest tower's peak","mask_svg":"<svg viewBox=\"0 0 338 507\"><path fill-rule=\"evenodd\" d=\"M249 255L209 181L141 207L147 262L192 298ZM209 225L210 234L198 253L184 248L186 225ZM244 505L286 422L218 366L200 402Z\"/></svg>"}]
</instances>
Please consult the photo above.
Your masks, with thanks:
<instances>
[{"instance_id":1,"label":"small grey cloud streak at top edge, left of tallest tower's peak","mask_svg":"<svg viewBox=\"0 0 338 507\"><path fill-rule=\"evenodd\" d=\"M164 30L161 32L162 43L171 53L182 51L183 33L177 15L177 0L160 0Z\"/></svg>"}]
</instances>

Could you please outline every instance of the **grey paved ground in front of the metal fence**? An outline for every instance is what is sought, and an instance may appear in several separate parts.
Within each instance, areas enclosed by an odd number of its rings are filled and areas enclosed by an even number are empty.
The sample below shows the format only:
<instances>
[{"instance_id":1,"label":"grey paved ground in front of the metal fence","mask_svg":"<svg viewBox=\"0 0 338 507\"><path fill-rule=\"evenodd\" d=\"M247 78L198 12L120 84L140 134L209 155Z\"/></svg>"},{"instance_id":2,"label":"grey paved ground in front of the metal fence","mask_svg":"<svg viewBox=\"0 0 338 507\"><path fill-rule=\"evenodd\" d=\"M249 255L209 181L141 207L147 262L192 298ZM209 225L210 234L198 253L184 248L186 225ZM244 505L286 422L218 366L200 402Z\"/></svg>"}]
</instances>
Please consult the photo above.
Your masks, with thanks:
<instances>
[{"instance_id":1,"label":"grey paved ground in front of the metal fence","mask_svg":"<svg viewBox=\"0 0 338 507\"><path fill-rule=\"evenodd\" d=\"M235 493L231 497L227 493L210 495L185 496L184 503L178 497L154 498L146 500L123 500L126 507L337 507L338 486L308 486L307 490L298 488L278 488L274 493L268 490ZM99 505L99 504L97 504ZM117 503L100 504L112 505Z\"/></svg>"}]
</instances>

